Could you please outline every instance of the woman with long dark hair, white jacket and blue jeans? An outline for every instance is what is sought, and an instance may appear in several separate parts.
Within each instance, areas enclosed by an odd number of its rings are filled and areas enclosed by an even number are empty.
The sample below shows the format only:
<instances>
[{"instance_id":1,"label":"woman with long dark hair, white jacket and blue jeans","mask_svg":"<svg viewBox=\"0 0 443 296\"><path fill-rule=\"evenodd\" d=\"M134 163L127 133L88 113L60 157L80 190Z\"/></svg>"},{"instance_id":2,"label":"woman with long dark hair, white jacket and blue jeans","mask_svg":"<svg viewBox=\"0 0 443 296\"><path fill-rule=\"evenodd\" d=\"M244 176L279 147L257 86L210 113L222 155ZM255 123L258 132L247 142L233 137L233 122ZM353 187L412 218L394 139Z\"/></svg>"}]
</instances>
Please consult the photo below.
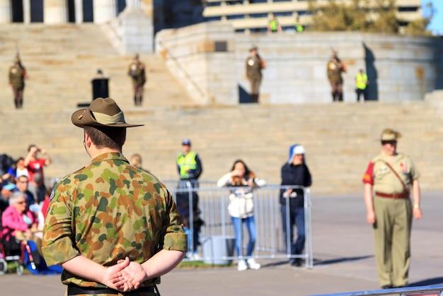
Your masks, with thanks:
<instances>
[{"instance_id":1,"label":"woman with long dark hair, white jacket and blue jeans","mask_svg":"<svg viewBox=\"0 0 443 296\"><path fill-rule=\"evenodd\" d=\"M254 203L253 203L253 189L262 186L265 182L255 177L255 174L249 170L243 160L236 160L232 165L231 172L225 174L217 185L219 187L232 187L231 194L229 194L228 212L231 215L232 225L234 225L234 233L236 237L236 251L239 256L238 271L245 271L248 268L259 269L260 264L251 258L255 238L257 237L255 231L254 219ZM246 257L243 259L243 224L248 229L248 249Z\"/></svg>"}]
</instances>

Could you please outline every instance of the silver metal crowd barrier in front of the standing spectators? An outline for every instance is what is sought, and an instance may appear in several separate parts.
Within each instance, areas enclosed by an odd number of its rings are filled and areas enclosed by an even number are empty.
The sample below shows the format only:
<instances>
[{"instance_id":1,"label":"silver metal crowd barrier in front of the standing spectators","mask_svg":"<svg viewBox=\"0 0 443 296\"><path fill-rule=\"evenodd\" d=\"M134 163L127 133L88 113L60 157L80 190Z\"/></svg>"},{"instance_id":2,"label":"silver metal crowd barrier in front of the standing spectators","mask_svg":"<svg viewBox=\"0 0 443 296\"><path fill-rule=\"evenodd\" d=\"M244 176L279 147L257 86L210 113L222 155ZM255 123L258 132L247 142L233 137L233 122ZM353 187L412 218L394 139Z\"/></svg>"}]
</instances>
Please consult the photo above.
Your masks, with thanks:
<instances>
[{"instance_id":1,"label":"silver metal crowd barrier in front of the standing spectators","mask_svg":"<svg viewBox=\"0 0 443 296\"><path fill-rule=\"evenodd\" d=\"M239 256L238 254L224 254L217 256L213 251L204 252L202 248L207 244L208 239L215 237L224 237L234 239L234 227L231 223L231 216L228 213L229 194L232 190L238 190L238 187L217 187L215 182L164 182L166 187L177 202L177 196L187 195L188 211L188 254L198 251L198 259L188 256L188 261L204 260L205 262L231 261L238 259L248 259L248 256ZM304 191L304 225L305 225L305 247L304 253L299 255L291 254L290 246L290 221L289 221L289 198L285 199L287 206L286 220L282 221L280 206L280 189L301 189ZM193 231L195 223L195 213L192 211L192 201L198 196L198 208L200 213L197 215L204 221L200 230L200 248L193 247ZM311 192L309 188L298 186L279 186L265 185L253 189L253 213L255 219L256 241L252 258L255 259L305 259L306 268L313 267L312 251L312 227L311 227ZM184 212L183 209L181 212ZM183 216L183 213L181 213ZM287 239L284 239L283 225L286 223ZM248 234L246 227L242 223L243 230L243 250L246 250L248 244ZM297 230L294 227L294 241L297 239ZM216 246L219 247L219 246ZM229 253L229 252L228 252ZM235 253L235 252L234 252ZM246 253L246 251L243 251ZM243 254L241 254L243 255Z\"/></svg>"}]
</instances>

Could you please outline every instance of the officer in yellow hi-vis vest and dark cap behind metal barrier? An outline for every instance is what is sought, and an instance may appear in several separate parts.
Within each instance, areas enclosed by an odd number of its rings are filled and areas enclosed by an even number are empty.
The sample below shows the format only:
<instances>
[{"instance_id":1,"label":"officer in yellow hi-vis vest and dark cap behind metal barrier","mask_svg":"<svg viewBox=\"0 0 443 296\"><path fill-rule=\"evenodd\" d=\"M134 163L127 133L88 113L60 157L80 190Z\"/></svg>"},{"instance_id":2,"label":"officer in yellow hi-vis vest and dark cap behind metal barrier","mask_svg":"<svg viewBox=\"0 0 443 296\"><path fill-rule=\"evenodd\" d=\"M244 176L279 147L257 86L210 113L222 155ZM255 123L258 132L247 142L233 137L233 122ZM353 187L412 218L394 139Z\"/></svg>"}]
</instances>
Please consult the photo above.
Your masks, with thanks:
<instances>
[{"instance_id":1,"label":"officer in yellow hi-vis vest and dark cap behind metal barrier","mask_svg":"<svg viewBox=\"0 0 443 296\"><path fill-rule=\"evenodd\" d=\"M198 178L202 174L203 167L197 153L191 150L191 141L185 138L182 141L182 152L177 155L177 170L180 175L178 182L177 207L188 232L188 258L199 259L197 247L199 245L199 232L203 225L198 208L197 191L190 195L188 189L198 188ZM190 221L190 197L192 196L192 225ZM190 228L192 227L192 235ZM192 242L191 242L192 240Z\"/></svg>"}]
</instances>

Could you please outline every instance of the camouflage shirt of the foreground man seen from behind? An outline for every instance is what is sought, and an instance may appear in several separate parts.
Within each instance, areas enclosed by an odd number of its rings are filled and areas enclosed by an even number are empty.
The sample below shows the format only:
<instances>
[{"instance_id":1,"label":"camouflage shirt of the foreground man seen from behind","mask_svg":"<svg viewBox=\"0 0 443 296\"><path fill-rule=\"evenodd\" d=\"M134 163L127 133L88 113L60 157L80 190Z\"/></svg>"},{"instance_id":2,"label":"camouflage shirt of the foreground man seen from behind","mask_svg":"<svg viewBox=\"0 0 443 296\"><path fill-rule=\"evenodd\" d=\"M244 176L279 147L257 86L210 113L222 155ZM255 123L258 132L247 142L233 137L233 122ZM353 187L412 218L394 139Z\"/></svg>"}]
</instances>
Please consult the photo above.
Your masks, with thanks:
<instances>
[{"instance_id":1,"label":"camouflage shirt of the foreground man seen from behind","mask_svg":"<svg viewBox=\"0 0 443 296\"><path fill-rule=\"evenodd\" d=\"M99 155L54 187L42 246L48 266L80 254L103 266L125 256L142 264L161 249L188 249L176 204L156 177L121 153ZM103 287L67 271L62 282ZM159 278L144 284L154 283Z\"/></svg>"}]
</instances>

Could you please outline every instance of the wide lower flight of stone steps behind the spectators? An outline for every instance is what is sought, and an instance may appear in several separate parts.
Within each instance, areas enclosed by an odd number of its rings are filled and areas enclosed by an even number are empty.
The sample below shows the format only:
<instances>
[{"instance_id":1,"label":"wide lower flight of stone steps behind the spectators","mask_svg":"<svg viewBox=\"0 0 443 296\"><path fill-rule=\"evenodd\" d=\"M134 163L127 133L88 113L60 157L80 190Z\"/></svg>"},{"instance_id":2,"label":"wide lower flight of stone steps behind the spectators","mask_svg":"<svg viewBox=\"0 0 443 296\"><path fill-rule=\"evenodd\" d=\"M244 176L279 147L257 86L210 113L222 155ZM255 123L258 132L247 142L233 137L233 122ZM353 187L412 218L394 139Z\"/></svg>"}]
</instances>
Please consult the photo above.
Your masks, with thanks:
<instances>
[{"instance_id":1,"label":"wide lower flight of stone steps behind the spectators","mask_svg":"<svg viewBox=\"0 0 443 296\"><path fill-rule=\"evenodd\" d=\"M1 114L0 148L24 155L28 143L47 148L54 164L47 176L62 177L88 163L81 129L70 122L72 110L48 113L23 110ZM124 153L141 153L144 167L161 179L176 179L175 157L190 137L204 165L202 179L216 180L236 158L259 177L279 182L280 167L292 143L306 146L315 193L361 190L367 162L379 153L380 131L403 133L399 150L411 155L426 191L443 189L442 119L425 102L402 105L243 105L239 107L164 107L125 109L130 129ZM30 127L32 124L32 128Z\"/></svg>"}]
</instances>

